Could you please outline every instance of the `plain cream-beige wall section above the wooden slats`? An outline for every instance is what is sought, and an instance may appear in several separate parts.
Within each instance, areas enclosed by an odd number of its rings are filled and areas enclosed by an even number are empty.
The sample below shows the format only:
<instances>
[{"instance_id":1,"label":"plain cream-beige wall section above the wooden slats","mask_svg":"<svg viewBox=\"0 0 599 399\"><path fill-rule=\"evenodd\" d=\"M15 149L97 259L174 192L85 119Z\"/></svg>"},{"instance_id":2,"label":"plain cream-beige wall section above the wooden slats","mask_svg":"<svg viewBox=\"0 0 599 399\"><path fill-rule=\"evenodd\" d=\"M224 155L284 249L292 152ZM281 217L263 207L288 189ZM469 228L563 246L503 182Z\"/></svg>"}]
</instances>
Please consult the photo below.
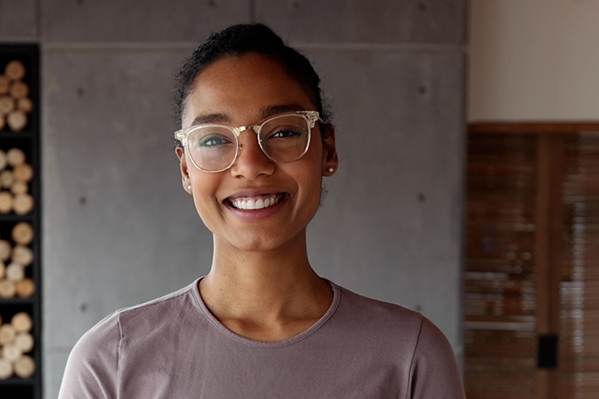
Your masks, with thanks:
<instances>
[{"instance_id":1,"label":"plain cream-beige wall section above the wooden slats","mask_svg":"<svg viewBox=\"0 0 599 399\"><path fill-rule=\"evenodd\" d=\"M599 119L599 1L470 0L468 120Z\"/></svg>"}]
</instances>

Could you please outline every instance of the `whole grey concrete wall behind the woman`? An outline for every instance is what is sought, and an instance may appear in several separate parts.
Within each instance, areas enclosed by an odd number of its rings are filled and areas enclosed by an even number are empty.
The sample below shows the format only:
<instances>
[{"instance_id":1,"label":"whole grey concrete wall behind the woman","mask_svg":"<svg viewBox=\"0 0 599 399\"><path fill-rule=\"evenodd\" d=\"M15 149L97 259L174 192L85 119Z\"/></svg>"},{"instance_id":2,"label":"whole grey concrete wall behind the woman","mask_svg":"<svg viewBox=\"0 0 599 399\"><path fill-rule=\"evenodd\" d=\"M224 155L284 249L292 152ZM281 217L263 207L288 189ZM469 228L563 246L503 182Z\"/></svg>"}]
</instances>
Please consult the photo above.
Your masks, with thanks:
<instances>
[{"instance_id":1,"label":"whole grey concrete wall behind the woman","mask_svg":"<svg viewBox=\"0 0 599 399\"><path fill-rule=\"evenodd\" d=\"M197 41L251 21L313 59L333 105L341 164L309 229L315 269L420 310L461 356L465 0L5 0L0 40L42 46L47 398L94 323L207 272L171 81Z\"/></svg>"}]
</instances>

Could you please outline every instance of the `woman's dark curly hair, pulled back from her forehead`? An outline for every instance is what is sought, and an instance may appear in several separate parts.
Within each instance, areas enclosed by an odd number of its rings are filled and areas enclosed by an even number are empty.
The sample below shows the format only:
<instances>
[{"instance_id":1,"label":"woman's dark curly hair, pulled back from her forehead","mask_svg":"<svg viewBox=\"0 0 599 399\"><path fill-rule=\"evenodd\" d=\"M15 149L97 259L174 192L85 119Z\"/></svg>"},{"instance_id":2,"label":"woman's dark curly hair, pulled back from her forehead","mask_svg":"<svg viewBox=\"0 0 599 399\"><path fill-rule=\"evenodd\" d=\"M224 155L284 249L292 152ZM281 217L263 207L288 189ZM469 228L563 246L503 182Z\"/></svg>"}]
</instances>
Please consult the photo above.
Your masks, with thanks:
<instances>
[{"instance_id":1,"label":"woman's dark curly hair, pulled back from her forehead","mask_svg":"<svg viewBox=\"0 0 599 399\"><path fill-rule=\"evenodd\" d=\"M179 124L183 117L185 101L193 88L195 78L221 57L240 56L247 53L263 54L279 62L306 91L322 120L329 123L330 114L323 104L320 78L310 61L299 51L287 46L267 26L241 24L230 26L210 35L205 42L199 45L179 71L175 99ZM326 132L326 130L324 131Z\"/></svg>"}]
</instances>

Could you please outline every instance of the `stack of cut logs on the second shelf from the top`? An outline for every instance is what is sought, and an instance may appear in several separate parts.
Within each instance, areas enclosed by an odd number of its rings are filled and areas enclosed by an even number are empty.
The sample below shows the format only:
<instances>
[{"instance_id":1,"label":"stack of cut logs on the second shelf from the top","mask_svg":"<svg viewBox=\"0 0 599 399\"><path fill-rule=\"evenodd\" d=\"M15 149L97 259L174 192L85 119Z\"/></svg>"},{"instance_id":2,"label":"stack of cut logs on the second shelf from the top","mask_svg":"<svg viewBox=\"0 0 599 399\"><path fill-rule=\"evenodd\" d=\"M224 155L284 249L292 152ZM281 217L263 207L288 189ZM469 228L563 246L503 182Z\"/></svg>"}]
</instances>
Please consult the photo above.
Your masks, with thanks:
<instances>
[{"instance_id":1,"label":"stack of cut logs on the second shelf from the top","mask_svg":"<svg viewBox=\"0 0 599 399\"><path fill-rule=\"evenodd\" d=\"M33 210L34 200L29 194L31 179L33 167L26 162L23 150L0 149L0 214L26 215Z\"/></svg>"}]
</instances>

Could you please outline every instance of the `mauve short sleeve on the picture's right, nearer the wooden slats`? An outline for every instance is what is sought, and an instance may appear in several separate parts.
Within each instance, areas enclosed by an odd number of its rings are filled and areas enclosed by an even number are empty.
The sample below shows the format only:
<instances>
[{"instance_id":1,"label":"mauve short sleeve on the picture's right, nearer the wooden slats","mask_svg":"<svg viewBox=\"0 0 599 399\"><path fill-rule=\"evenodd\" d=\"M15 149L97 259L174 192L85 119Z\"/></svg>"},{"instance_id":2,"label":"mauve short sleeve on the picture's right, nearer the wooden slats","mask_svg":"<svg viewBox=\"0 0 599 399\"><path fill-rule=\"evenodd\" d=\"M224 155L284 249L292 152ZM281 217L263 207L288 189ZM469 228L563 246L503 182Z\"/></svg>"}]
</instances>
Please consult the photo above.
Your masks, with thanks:
<instances>
[{"instance_id":1,"label":"mauve short sleeve on the picture's right, nearer the wooden slats","mask_svg":"<svg viewBox=\"0 0 599 399\"><path fill-rule=\"evenodd\" d=\"M411 370L411 399L465 399L462 379L451 345L424 318Z\"/></svg>"}]
</instances>

